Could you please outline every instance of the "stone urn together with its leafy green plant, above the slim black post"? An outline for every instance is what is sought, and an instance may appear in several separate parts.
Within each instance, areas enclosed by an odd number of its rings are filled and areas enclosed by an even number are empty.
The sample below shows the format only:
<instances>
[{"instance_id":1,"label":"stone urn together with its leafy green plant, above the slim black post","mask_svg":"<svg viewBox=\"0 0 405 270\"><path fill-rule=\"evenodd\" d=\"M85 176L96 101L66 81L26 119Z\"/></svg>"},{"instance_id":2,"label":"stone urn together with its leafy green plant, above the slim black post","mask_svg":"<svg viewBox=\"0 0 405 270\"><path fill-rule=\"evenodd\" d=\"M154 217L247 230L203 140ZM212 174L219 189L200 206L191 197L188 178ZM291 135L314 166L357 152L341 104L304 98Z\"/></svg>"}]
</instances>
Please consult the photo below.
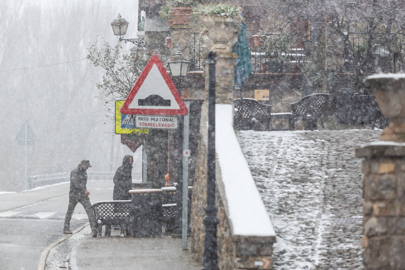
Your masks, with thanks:
<instances>
[{"instance_id":1,"label":"stone urn together with its leafy green plant, above the slim black post","mask_svg":"<svg viewBox=\"0 0 405 270\"><path fill-rule=\"evenodd\" d=\"M239 24L243 19L241 8L230 4L206 4L194 10L203 20L207 36L213 43L211 50L230 50L237 42Z\"/></svg>"}]
</instances>

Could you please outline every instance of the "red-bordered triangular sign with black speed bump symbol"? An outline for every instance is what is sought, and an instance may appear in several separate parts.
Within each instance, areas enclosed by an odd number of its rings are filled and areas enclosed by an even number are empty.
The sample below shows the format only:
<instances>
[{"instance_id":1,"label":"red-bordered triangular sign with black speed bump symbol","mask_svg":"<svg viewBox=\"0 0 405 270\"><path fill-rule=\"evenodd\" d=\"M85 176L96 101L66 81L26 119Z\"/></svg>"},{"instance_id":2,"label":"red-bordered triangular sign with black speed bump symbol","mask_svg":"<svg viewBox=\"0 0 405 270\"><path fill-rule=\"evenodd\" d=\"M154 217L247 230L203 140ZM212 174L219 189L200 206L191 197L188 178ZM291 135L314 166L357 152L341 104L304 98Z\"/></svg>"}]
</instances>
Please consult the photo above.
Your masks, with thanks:
<instances>
[{"instance_id":1,"label":"red-bordered triangular sign with black speed bump symbol","mask_svg":"<svg viewBox=\"0 0 405 270\"><path fill-rule=\"evenodd\" d=\"M167 74L158 55L152 55L120 112L132 115L186 115L179 92Z\"/></svg>"}]
</instances>

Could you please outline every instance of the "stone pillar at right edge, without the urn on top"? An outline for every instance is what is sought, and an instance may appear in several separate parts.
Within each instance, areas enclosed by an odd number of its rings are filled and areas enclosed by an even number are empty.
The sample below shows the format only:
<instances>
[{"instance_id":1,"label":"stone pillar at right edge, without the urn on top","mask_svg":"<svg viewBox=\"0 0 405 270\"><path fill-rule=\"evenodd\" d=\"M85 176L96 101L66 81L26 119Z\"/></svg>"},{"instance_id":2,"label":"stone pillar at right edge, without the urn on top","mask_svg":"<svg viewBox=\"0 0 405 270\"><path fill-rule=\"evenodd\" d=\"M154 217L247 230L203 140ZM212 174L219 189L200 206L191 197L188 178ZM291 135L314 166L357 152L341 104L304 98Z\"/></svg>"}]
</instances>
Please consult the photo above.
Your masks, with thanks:
<instances>
[{"instance_id":1,"label":"stone pillar at right edge, without the urn on top","mask_svg":"<svg viewBox=\"0 0 405 270\"><path fill-rule=\"evenodd\" d=\"M405 145L368 145L356 149L356 156L365 158L365 269L405 269Z\"/></svg>"}]
</instances>

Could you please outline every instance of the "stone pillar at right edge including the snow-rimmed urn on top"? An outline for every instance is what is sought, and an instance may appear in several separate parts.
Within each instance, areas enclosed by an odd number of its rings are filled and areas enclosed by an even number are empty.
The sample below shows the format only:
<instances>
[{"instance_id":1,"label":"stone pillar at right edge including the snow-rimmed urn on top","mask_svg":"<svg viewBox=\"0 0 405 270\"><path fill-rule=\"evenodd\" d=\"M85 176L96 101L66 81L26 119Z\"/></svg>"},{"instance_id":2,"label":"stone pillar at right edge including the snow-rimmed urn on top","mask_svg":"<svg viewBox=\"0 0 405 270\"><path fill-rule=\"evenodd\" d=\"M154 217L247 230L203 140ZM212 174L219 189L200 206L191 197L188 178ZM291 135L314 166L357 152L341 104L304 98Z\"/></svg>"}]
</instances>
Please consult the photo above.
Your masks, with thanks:
<instances>
[{"instance_id":1,"label":"stone pillar at right edge including the snow-rimmed urn on top","mask_svg":"<svg viewBox=\"0 0 405 270\"><path fill-rule=\"evenodd\" d=\"M363 238L367 270L405 269L405 75L366 78L390 121L382 142L356 149L365 158Z\"/></svg>"}]
</instances>

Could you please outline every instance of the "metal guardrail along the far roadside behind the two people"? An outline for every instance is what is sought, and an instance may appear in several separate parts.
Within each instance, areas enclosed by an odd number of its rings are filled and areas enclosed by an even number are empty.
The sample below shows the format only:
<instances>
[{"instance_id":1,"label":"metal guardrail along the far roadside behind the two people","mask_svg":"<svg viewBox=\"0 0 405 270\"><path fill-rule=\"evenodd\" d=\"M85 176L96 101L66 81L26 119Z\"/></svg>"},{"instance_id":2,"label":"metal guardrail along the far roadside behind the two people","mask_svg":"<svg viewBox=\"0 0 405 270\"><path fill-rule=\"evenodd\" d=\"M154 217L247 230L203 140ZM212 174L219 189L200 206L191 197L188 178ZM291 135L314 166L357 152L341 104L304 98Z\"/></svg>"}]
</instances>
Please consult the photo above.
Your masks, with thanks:
<instances>
[{"instance_id":1,"label":"metal guardrail along the far roadside behind the two people","mask_svg":"<svg viewBox=\"0 0 405 270\"><path fill-rule=\"evenodd\" d=\"M115 172L87 172L87 181L111 180L113 181ZM70 172L59 172L53 174L38 174L29 179L29 188L42 187L45 185L54 185L70 181ZM141 172L132 172L132 181L142 182Z\"/></svg>"}]
</instances>

